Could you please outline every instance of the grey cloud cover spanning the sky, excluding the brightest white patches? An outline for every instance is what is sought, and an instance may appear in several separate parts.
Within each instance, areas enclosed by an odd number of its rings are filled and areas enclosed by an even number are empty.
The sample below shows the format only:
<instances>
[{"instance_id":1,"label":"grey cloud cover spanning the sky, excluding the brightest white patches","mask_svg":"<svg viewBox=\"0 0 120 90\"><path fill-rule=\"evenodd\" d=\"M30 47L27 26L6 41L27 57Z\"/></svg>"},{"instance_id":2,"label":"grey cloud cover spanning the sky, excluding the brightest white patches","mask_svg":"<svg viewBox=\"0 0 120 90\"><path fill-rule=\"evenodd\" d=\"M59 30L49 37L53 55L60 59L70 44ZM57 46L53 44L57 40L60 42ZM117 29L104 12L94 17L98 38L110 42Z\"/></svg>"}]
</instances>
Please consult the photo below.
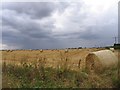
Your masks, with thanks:
<instances>
[{"instance_id":1,"label":"grey cloud cover spanning the sky, excluding the brightest white patches","mask_svg":"<svg viewBox=\"0 0 120 90\"><path fill-rule=\"evenodd\" d=\"M82 2L74 2L73 4L63 2L4 3L2 16L3 44L17 46L20 49L46 49L113 43L109 37L117 33L116 14L110 15L110 11L104 17L93 18L92 20L87 11L84 13L81 11L83 5ZM64 28L61 34L57 32L60 29L54 26L55 21L51 16L56 11L62 15L67 9L73 10L72 16L66 17L67 21L63 22ZM90 25L87 21L84 22L86 19Z\"/></svg>"}]
</instances>

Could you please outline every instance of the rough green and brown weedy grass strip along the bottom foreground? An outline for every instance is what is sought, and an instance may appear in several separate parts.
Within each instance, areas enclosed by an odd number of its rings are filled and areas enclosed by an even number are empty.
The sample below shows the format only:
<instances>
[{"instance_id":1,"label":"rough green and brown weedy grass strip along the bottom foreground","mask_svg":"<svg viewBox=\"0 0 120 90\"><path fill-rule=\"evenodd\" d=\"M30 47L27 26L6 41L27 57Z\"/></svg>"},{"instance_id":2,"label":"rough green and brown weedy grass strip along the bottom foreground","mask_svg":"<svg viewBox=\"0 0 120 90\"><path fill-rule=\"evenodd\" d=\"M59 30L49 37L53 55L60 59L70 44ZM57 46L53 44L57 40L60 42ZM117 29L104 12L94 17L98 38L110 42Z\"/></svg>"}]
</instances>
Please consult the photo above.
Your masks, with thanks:
<instances>
[{"instance_id":1,"label":"rough green and brown weedy grass strip along the bottom foreground","mask_svg":"<svg viewBox=\"0 0 120 90\"><path fill-rule=\"evenodd\" d=\"M104 73L76 72L67 68L3 64L3 88L116 88L117 69Z\"/></svg>"}]
</instances>

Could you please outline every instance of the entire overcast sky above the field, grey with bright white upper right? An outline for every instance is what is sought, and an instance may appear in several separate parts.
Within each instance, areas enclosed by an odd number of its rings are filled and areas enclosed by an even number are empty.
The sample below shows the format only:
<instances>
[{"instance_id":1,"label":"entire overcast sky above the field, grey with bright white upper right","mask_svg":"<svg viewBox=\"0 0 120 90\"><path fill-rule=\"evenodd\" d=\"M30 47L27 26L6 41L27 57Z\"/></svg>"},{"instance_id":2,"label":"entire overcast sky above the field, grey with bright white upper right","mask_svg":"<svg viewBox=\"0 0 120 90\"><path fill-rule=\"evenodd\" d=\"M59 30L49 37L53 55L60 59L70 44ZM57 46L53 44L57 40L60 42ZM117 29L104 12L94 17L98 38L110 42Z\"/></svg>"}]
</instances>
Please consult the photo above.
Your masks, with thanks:
<instances>
[{"instance_id":1,"label":"entire overcast sky above the field, grey with bright white upper right","mask_svg":"<svg viewBox=\"0 0 120 90\"><path fill-rule=\"evenodd\" d=\"M119 0L4 2L2 49L101 47L118 36Z\"/></svg>"}]
</instances>

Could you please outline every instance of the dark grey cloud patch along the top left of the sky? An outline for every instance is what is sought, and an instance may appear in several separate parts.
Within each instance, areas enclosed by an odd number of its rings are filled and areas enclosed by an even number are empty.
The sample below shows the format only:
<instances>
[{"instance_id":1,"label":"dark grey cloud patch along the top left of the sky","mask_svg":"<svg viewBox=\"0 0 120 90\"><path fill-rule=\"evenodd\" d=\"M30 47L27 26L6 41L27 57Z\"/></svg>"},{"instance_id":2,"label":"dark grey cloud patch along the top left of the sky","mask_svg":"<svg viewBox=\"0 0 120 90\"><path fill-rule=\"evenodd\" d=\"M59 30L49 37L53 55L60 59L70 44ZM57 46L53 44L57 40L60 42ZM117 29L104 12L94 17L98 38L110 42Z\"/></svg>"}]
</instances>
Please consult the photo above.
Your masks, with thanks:
<instances>
[{"instance_id":1,"label":"dark grey cloud patch along the top left of the sky","mask_svg":"<svg viewBox=\"0 0 120 90\"><path fill-rule=\"evenodd\" d=\"M18 14L27 14L33 19L41 19L51 15L54 11L54 4L51 2L3 3L3 9L16 11Z\"/></svg>"}]
</instances>

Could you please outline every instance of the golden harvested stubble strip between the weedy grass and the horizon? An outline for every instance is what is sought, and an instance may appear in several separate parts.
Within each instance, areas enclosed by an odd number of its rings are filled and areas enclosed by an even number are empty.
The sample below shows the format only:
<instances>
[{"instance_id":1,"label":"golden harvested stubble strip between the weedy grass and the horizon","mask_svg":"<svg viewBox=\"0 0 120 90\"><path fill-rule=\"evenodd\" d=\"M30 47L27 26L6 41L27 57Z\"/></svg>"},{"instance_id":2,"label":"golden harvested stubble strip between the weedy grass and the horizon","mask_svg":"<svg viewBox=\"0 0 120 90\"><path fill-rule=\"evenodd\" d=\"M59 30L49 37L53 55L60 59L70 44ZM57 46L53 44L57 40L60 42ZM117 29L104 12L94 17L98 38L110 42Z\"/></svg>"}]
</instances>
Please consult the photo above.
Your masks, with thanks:
<instances>
[{"instance_id":1,"label":"golden harvested stubble strip between the weedy grass and the horizon","mask_svg":"<svg viewBox=\"0 0 120 90\"><path fill-rule=\"evenodd\" d=\"M44 60L45 66L56 68L60 63L67 63L73 70L85 68L85 58L89 52L99 51L100 49L71 49L65 53L65 50L18 50L12 52L3 51L2 59L6 63L20 64L21 62L33 63Z\"/></svg>"}]
</instances>

